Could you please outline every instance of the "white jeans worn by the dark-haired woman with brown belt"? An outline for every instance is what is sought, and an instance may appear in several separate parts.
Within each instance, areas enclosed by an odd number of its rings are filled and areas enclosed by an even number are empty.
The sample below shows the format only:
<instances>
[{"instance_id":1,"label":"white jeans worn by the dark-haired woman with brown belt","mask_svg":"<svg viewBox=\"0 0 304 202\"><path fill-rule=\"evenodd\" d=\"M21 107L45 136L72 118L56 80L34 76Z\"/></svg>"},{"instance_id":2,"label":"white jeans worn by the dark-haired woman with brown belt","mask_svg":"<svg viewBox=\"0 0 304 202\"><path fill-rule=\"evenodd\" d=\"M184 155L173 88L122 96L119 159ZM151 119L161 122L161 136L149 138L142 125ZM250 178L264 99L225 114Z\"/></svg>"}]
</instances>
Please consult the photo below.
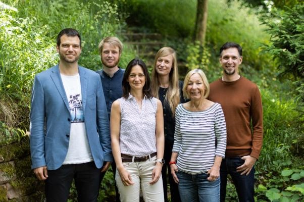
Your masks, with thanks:
<instances>
[{"instance_id":1,"label":"white jeans worn by the dark-haired woman with brown belt","mask_svg":"<svg viewBox=\"0 0 304 202\"><path fill-rule=\"evenodd\" d=\"M119 172L116 172L115 180L120 194L121 202L138 202L139 190L141 186L143 199L149 201L164 201L164 189L162 176L155 184L149 184L152 181L152 172L156 166L157 157L144 162L123 163L125 169L130 173L134 184L125 186L120 178Z\"/></svg>"}]
</instances>

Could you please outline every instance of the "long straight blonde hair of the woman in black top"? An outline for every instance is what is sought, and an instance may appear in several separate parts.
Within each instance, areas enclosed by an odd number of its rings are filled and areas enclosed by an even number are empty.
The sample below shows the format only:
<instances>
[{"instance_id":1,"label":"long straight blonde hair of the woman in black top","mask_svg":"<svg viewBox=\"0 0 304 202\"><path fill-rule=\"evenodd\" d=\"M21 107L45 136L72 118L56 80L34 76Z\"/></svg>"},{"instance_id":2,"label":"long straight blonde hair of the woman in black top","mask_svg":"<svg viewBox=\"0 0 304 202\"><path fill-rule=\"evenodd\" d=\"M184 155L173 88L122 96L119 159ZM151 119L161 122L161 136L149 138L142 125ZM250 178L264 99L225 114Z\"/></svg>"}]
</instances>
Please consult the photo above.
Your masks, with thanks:
<instances>
[{"instance_id":1,"label":"long straight blonde hair of the woman in black top","mask_svg":"<svg viewBox=\"0 0 304 202\"><path fill-rule=\"evenodd\" d=\"M156 71L156 63L159 58L166 57L172 55L172 68L169 73L169 87L166 92L165 102L169 103L172 115L175 115L175 109L177 105L180 103L180 91L179 91L179 80L178 80L178 69L177 69L177 60L176 53L171 47L162 47L156 54L154 59L154 66L152 70L152 93L154 97L159 98L159 78L158 73Z\"/></svg>"}]
</instances>

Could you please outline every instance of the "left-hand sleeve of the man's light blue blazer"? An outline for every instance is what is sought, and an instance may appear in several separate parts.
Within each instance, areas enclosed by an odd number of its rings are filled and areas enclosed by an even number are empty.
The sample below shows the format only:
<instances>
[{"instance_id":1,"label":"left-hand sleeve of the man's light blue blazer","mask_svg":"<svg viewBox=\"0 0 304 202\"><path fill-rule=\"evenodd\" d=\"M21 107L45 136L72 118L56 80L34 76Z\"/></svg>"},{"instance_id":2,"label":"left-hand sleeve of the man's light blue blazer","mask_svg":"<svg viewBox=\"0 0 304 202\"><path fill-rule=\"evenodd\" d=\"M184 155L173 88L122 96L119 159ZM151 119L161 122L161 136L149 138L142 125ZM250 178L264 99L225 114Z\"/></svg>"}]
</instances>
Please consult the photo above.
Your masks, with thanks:
<instances>
[{"instance_id":1,"label":"left-hand sleeve of the man's light blue blazer","mask_svg":"<svg viewBox=\"0 0 304 202\"><path fill-rule=\"evenodd\" d=\"M34 79L30 110L30 150L32 169L45 166L44 154L44 90L37 75Z\"/></svg>"}]
</instances>

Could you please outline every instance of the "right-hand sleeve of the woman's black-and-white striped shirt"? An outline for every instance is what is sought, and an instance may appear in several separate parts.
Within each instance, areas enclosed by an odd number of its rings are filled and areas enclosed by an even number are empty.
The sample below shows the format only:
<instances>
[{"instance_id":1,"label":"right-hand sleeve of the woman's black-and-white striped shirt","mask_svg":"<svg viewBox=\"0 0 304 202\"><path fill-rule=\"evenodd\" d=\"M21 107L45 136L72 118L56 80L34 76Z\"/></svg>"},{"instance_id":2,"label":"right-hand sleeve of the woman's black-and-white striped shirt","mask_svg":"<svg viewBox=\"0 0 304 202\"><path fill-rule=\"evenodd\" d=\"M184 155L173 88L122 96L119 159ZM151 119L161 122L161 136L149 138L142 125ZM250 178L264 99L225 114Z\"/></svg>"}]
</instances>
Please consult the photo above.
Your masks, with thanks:
<instances>
[{"instance_id":1,"label":"right-hand sleeve of the woman's black-and-white striped shirt","mask_svg":"<svg viewBox=\"0 0 304 202\"><path fill-rule=\"evenodd\" d=\"M226 151L226 141L227 141L227 132L226 132L226 122L222 107L218 104L218 107L215 111L215 134L217 140L216 146L216 156L225 158Z\"/></svg>"}]
</instances>

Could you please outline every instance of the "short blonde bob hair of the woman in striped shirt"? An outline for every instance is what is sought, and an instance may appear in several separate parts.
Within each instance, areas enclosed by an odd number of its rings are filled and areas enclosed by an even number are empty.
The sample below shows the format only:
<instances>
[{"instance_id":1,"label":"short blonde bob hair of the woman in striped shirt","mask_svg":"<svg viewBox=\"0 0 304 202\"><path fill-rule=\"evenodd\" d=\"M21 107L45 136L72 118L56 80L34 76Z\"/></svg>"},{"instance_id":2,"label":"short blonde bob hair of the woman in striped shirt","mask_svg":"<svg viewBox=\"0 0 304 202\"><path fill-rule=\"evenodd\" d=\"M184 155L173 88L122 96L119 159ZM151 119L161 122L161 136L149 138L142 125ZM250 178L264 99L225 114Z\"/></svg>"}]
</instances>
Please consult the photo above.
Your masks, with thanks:
<instances>
[{"instance_id":1,"label":"short blonde bob hair of the woman in striped shirt","mask_svg":"<svg viewBox=\"0 0 304 202\"><path fill-rule=\"evenodd\" d=\"M209 86L209 82L208 82L208 79L205 75L205 73L200 70L200 69L194 69L194 70L191 70L187 73L187 75L185 76L185 79L184 79L184 85L183 85L183 95L184 95L184 98L185 99L189 99L189 94L187 92L187 85L188 85L188 82L190 80L190 77L197 73L200 77L201 77L201 80L202 80L202 83L204 83L204 86L205 86L205 93L204 93L204 98L207 98L208 95L209 95L209 92L210 92L210 86Z\"/></svg>"}]
</instances>

